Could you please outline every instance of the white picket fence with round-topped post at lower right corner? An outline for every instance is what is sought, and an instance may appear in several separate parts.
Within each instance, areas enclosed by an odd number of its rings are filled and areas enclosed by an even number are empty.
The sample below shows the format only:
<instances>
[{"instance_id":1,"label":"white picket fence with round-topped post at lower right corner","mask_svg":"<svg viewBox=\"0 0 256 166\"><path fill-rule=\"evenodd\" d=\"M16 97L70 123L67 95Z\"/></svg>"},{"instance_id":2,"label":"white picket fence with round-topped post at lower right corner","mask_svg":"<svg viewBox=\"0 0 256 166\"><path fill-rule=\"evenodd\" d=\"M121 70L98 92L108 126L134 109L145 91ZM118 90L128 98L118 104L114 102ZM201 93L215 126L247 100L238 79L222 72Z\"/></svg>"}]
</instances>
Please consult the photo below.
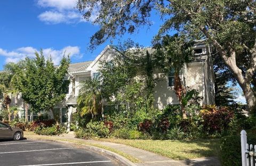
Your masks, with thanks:
<instances>
[{"instance_id":1,"label":"white picket fence with round-topped post at lower right corner","mask_svg":"<svg viewBox=\"0 0 256 166\"><path fill-rule=\"evenodd\" d=\"M241 151L242 166L255 166L256 145L247 144L247 135L245 130L241 131Z\"/></svg>"}]
</instances>

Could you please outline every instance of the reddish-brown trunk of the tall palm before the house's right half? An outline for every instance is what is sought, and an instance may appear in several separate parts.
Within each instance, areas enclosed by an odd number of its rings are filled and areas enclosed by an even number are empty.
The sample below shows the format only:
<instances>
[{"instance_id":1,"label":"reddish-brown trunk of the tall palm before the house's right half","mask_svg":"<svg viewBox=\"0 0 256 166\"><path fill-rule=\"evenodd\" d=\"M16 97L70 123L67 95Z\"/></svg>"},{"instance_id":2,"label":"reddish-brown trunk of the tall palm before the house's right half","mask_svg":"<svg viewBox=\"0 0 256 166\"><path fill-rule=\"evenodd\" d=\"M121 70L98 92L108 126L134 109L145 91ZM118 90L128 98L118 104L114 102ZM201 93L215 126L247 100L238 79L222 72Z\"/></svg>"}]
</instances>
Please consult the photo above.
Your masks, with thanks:
<instances>
[{"instance_id":1,"label":"reddish-brown trunk of the tall palm before the house's right half","mask_svg":"<svg viewBox=\"0 0 256 166\"><path fill-rule=\"evenodd\" d=\"M187 115L186 115L185 107L181 103L181 101L182 101L182 93L185 91L185 88L181 84L179 73L176 73L176 72L174 73L174 90L175 90L175 93L176 93L176 95L178 97L178 100L179 100L179 103L180 103L182 117L183 117L183 119L186 119Z\"/></svg>"}]
</instances>

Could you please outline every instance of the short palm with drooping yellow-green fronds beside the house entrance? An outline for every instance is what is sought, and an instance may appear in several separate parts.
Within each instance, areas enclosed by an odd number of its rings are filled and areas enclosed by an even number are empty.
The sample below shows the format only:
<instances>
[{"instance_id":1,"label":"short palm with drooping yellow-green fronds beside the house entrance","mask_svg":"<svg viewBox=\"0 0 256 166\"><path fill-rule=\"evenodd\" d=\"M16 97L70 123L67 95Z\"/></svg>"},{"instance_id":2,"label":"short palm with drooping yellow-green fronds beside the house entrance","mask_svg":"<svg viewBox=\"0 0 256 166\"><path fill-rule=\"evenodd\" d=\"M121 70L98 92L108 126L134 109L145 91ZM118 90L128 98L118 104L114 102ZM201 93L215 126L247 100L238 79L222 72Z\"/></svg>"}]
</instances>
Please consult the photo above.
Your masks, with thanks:
<instances>
[{"instance_id":1,"label":"short palm with drooping yellow-green fronds beside the house entrance","mask_svg":"<svg viewBox=\"0 0 256 166\"><path fill-rule=\"evenodd\" d=\"M81 116L91 114L92 118L102 112L100 81L90 77L80 83L77 108Z\"/></svg>"}]
</instances>

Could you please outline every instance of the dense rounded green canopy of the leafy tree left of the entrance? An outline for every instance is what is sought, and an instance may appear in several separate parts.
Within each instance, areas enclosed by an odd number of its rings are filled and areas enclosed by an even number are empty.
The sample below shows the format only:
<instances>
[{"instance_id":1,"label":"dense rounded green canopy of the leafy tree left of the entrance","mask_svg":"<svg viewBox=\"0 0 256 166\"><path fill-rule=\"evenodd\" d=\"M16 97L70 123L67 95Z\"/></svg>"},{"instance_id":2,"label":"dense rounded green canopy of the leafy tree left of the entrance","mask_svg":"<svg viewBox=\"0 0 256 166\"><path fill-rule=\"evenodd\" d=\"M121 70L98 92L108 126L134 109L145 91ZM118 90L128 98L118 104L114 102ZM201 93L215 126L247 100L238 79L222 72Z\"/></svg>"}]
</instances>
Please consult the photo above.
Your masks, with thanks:
<instances>
[{"instance_id":1,"label":"dense rounded green canopy of the leafy tree left of the entrance","mask_svg":"<svg viewBox=\"0 0 256 166\"><path fill-rule=\"evenodd\" d=\"M35 56L23 60L25 67L19 71L19 90L32 111L51 111L66 97L69 80L65 78L70 60L63 57L60 65L54 66L51 58L45 60L42 50Z\"/></svg>"}]
</instances>

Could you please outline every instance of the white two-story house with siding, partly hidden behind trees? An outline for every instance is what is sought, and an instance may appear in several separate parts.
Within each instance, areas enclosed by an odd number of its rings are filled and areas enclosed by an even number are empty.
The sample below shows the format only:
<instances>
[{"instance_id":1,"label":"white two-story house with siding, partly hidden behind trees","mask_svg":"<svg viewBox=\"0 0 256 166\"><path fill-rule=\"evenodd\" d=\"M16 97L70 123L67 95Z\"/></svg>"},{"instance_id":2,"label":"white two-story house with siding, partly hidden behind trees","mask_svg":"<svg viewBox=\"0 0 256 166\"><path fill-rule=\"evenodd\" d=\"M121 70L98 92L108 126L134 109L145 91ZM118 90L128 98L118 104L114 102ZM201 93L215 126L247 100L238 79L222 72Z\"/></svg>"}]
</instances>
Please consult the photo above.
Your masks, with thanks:
<instances>
[{"instance_id":1,"label":"white two-story house with siding, partly hidden behind trees","mask_svg":"<svg viewBox=\"0 0 256 166\"><path fill-rule=\"evenodd\" d=\"M199 91L203 97L201 104L214 104L214 72L211 60L211 50L203 41L197 41L194 46L195 57L191 63L183 66L181 80L184 86ZM67 89L66 100L58 104L55 110L60 111L62 123L71 121L71 115L76 111L76 99L79 92L79 82L99 75L99 66L102 60L109 61L118 54L117 50L107 46L93 61L70 64L68 79L70 84ZM173 90L173 76L165 76L158 80L154 88L155 107L163 109L168 104L179 104ZM14 101L14 100L12 100ZM13 106L13 102L11 105ZM25 103L19 96L19 116L25 117ZM30 120L37 117L37 113L30 114ZM68 123L69 124L69 123ZM69 125L68 125L69 127Z\"/></svg>"}]
</instances>

